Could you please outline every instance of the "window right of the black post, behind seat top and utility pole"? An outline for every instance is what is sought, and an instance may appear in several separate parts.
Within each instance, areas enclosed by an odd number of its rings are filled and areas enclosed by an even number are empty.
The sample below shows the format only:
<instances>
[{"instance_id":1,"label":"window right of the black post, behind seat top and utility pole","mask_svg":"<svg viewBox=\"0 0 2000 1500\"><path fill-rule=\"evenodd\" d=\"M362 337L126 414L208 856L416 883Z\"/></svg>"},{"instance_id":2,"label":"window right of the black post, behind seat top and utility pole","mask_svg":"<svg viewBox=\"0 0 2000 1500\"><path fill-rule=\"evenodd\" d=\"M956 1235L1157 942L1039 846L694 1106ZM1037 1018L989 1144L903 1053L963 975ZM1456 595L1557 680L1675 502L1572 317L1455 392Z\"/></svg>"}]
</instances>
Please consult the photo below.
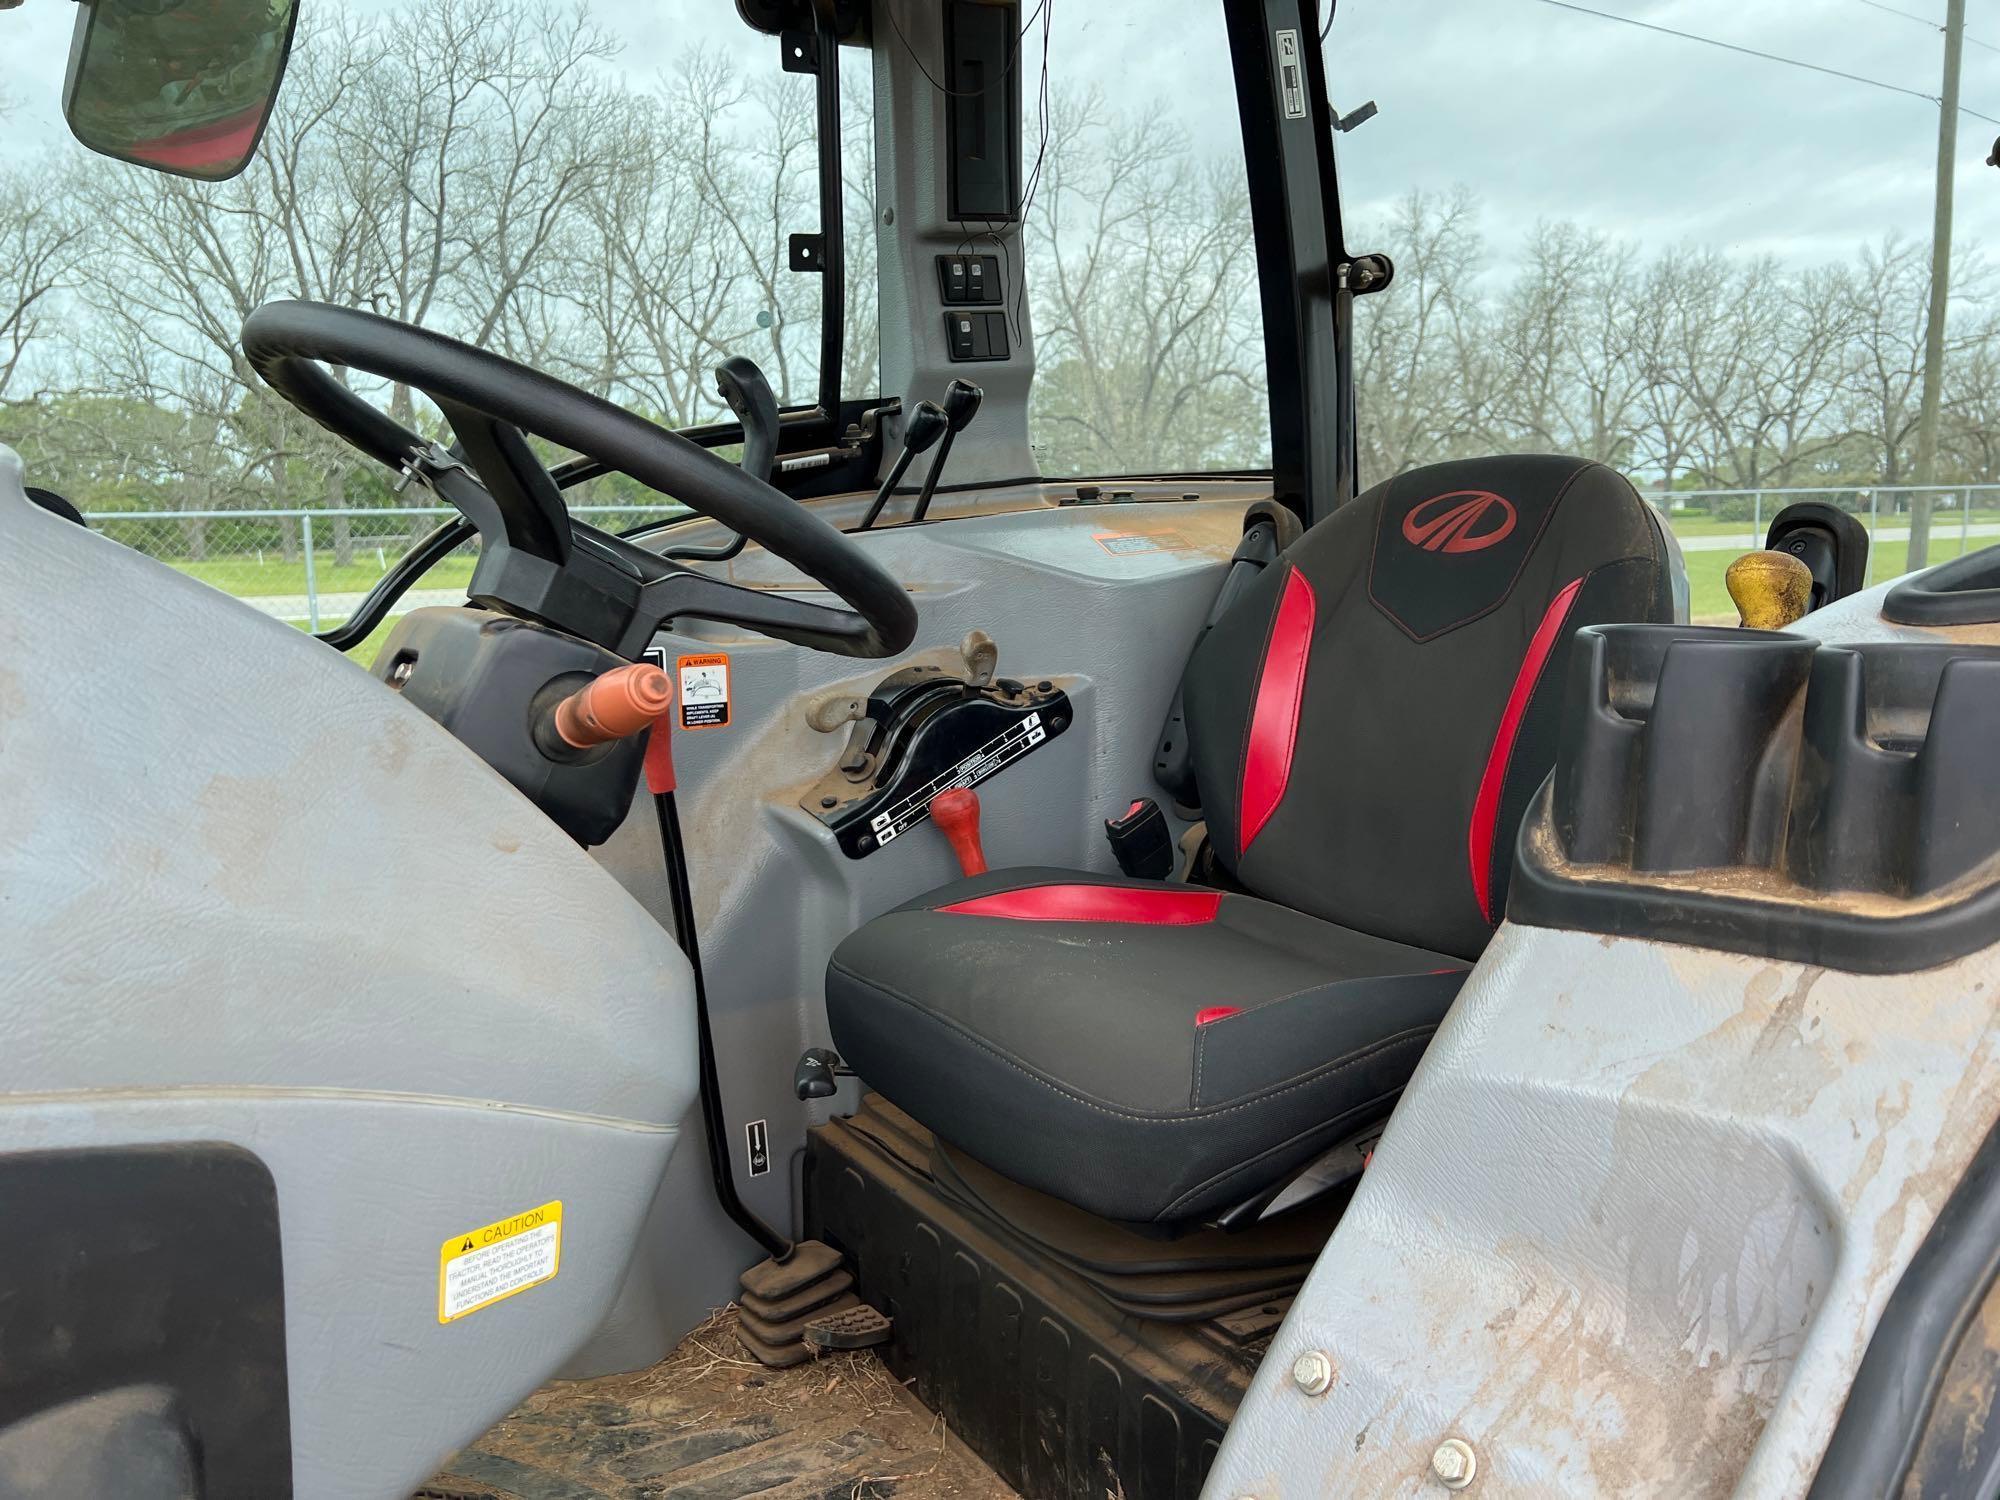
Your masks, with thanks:
<instances>
[{"instance_id":1,"label":"window right of the black post, behind seat top and utility pole","mask_svg":"<svg viewBox=\"0 0 2000 1500\"><path fill-rule=\"evenodd\" d=\"M1618 12L1618 14L1612 14ZM1922 14L1918 14L1922 12ZM1962 62L1942 396L1920 484L1944 6L1346 0L1326 40L1356 304L1360 478L1600 458L1672 518L1696 618L1794 500L1872 578L2000 536L2000 30Z\"/></svg>"}]
</instances>

